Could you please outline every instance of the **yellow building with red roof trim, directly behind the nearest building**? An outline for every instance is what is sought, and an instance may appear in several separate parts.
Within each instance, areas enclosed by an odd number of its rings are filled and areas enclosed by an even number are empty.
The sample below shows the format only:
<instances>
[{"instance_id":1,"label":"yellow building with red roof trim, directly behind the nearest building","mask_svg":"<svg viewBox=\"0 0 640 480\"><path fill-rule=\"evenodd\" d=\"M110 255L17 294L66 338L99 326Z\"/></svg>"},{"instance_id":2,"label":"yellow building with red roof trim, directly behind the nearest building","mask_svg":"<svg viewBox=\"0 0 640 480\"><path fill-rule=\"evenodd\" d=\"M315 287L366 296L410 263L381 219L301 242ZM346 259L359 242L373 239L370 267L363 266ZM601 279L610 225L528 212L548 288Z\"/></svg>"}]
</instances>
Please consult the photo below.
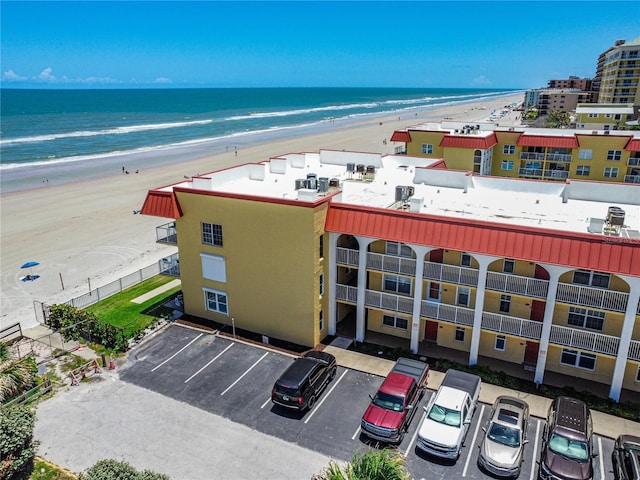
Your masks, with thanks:
<instances>
[{"instance_id":1,"label":"yellow building with red roof trim, directly behind the nearest building","mask_svg":"<svg viewBox=\"0 0 640 480\"><path fill-rule=\"evenodd\" d=\"M391 141L403 144L398 151L409 156L440 159L449 169L481 175L640 183L638 131L442 122L397 130Z\"/></svg>"}]
</instances>

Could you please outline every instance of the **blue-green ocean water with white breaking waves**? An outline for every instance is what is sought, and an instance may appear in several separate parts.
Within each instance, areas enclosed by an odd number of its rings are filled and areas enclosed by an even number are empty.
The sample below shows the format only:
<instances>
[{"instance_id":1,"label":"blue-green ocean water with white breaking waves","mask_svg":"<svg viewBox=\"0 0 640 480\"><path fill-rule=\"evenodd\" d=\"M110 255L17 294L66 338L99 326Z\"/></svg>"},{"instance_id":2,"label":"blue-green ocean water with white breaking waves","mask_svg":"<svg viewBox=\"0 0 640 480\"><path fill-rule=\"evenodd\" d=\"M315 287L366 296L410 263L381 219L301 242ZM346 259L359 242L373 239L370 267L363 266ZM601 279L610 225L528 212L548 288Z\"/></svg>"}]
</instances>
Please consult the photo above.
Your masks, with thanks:
<instances>
[{"instance_id":1,"label":"blue-green ocean water with white breaking waves","mask_svg":"<svg viewBox=\"0 0 640 480\"><path fill-rule=\"evenodd\" d=\"M210 88L0 90L0 173L304 130L513 90ZM15 173L15 172L14 172Z\"/></svg>"}]
</instances>

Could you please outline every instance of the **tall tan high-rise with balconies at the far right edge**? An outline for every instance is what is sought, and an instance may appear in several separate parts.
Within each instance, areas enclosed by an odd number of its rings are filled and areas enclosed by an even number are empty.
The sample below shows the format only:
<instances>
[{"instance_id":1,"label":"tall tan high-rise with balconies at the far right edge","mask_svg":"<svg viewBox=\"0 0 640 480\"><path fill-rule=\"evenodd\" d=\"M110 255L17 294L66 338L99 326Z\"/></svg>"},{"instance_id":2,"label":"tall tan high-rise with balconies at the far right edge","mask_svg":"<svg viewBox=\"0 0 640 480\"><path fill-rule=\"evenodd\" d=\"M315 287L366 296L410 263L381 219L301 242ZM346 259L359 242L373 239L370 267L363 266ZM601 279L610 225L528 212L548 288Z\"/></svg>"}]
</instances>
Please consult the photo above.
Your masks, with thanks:
<instances>
[{"instance_id":1,"label":"tall tan high-rise with balconies at the far right edge","mask_svg":"<svg viewBox=\"0 0 640 480\"><path fill-rule=\"evenodd\" d=\"M640 107L640 37L619 40L598 59L598 103L627 103Z\"/></svg>"}]
</instances>

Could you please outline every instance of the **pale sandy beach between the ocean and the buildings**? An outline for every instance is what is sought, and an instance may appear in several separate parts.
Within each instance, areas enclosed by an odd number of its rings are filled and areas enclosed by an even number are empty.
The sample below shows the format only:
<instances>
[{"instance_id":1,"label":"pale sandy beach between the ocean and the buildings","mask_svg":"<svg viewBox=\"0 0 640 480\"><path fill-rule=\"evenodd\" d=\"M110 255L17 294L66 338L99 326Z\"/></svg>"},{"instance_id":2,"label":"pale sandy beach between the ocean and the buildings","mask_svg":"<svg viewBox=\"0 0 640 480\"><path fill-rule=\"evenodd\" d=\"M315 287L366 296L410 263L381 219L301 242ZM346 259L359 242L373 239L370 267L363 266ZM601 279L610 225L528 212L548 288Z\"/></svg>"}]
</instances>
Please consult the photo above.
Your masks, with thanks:
<instances>
[{"instance_id":1,"label":"pale sandy beach between the ocean and the buildings","mask_svg":"<svg viewBox=\"0 0 640 480\"><path fill-rule=\"evenodd\" d=\"M291 138L247 138L237 143L237 155L234 149L226 151L220 146L219 153L188 161L179 151L158 154L162 159L157 162L153 156L138 158L137 164L126 155L114 160L123 165L133 162L139 173L132 171L129 175L122 174L114 163L86 167L90 175L82 168L60 172L52 175L48 183L42 181L39 172L34 173L24 188L37 188L3 192L0 197L0 328L15 322L20 322L22 328L33 327L37 325L34 301L67 301L87 293L89 285L105 285L175 253L175 247L156 243L155 227L170 219L133 213L140 209L149 189L178 182L185 176L289 152L344 149L392 154L401 145L388 141L396 129L445 118L484 121L492 110L521 100L522 94L517 93L490 101L435 107L418 114L331 125L319 133ZM515 120L515 113L512 116L500 123ZM40 263L33 268L33 274L40 278L23 282L20 278L29 272L20 266L28 261Z\"/></svg>"}]
</instances>

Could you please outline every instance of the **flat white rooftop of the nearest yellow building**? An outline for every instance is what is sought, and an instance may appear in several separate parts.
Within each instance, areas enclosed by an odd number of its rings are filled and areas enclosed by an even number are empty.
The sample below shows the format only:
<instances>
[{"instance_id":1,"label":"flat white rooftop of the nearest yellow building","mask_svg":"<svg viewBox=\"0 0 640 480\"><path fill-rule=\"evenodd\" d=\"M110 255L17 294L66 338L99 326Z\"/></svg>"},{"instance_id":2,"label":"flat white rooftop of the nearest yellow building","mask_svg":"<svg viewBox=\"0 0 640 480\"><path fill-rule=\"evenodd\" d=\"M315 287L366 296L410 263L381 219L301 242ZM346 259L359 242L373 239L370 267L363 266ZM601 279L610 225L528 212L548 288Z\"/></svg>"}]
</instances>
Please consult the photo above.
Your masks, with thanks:
<instances>
[{"instance_id":1,"label":"flat white rooftop of the nearest yellow building","mask_svg":"<svg viewBox=\"0 0 640 480\"><path fill-rule=\"evenodd\" d=\"M321 150L213 172L173 186L307 202L331 195L331 201L339 203L582 233L589 232L593 219L596 224L597 219L604 221L608 208L616 206L625 211L620 236L640 235L638 185L533 181L426 168L438 161ZM375 166L375 175L350 172L348 164ZM337 180L339 187L327 193L296 189L296 180L307 174ZM397 186L413 187L413 195L397 202Z\"/></svg>"}]
</instances>

